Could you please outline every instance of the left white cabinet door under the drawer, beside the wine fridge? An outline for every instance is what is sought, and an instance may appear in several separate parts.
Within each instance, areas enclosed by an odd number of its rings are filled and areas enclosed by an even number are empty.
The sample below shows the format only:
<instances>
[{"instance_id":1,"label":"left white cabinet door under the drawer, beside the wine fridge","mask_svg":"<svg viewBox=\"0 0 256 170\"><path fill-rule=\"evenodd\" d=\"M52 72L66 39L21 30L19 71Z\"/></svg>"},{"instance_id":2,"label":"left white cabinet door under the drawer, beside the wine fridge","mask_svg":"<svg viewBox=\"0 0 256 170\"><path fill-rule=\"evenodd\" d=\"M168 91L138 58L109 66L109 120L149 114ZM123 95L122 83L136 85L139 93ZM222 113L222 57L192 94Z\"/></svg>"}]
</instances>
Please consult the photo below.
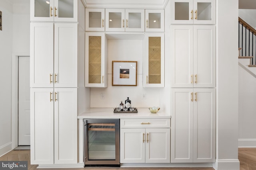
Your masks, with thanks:
<instances>
[{"instance_id":1,"label":"left white cabinet door under the drawer, beside the wine fridge","mask_svg":"<svg viewBox=\"0 0 256 170\"><path fill-rule=\"evenodd\" d=\"M145 143L145 129L120 129L120 163L144 163Z\"/></svg>"}]
</instances>

